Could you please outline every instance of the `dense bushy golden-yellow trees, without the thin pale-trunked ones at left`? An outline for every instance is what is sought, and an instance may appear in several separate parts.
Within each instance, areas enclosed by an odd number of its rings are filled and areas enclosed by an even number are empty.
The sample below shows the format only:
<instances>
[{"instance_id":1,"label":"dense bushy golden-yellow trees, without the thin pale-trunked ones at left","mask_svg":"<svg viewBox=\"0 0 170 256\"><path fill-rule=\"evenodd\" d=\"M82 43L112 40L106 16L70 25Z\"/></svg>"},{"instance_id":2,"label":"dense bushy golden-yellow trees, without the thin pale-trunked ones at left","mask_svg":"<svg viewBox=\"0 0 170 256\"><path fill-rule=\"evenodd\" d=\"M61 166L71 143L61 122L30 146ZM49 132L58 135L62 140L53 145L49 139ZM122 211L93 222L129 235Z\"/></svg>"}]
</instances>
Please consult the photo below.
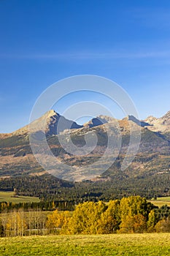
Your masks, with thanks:
<instances>
[{"instance_id":1,"label":"dense bushy golden-yellow trees, without the thin pale-trunked ones at left","mask_svg":"<svg viewBox=\"0 0 170 256\"><path fill-rule=\"evenodd\" d=\"M111 234L170 231L169 219L159 220L152 203L139 196L110 200L109 203L85 202L77 205L72 216L54 211L47 220L51 232L64 234Z\"/></svg>"}]
</instances>

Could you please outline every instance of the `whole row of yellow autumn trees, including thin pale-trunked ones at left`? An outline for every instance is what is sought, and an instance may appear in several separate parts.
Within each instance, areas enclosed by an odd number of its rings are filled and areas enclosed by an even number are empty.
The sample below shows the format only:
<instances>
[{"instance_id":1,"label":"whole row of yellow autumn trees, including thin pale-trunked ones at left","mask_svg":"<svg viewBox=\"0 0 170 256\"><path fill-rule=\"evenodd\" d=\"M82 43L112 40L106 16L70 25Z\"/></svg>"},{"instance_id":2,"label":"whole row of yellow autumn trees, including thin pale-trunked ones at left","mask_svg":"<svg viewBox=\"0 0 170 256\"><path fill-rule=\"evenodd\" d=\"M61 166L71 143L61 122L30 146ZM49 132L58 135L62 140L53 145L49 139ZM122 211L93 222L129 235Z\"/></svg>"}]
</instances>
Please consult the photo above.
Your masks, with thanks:
<instances>
[{"instance_id":1,"label":"whole row of yellow autumn trees, including thin pale-trunked ones at left","mask_svg":"<svg viewBox=\"0 0 170 256\"><path fill-rule=\"evenodd\" d=\"M0 236L170 232L170 207L158 208L140 196L79 203L74 211L23 208L0 214Z\"/></svg>"}]
</instances>

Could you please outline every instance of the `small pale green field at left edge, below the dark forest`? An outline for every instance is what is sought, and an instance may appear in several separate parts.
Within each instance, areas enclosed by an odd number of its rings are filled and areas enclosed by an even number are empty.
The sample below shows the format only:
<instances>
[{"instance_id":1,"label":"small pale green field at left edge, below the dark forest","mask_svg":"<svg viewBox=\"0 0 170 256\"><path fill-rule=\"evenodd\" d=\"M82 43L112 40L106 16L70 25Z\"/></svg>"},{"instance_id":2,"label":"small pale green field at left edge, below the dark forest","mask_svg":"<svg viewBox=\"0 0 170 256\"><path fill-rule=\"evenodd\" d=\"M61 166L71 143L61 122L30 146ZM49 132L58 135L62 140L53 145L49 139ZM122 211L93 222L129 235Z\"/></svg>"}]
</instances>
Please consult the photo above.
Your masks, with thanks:
<instances>
[{"instance_id":1,"label":"small pale green field at left edge, below the dark forest","mask_svg":"<svg viewBox=\"0 0 170 256\"><path fill-rule=\"evenodd\" d=\"M28 203L39 202L39 197L13 197L14 192L2 192L0 191L0 202L12 202L12 203Z\"/></svg>"}]
</instances>

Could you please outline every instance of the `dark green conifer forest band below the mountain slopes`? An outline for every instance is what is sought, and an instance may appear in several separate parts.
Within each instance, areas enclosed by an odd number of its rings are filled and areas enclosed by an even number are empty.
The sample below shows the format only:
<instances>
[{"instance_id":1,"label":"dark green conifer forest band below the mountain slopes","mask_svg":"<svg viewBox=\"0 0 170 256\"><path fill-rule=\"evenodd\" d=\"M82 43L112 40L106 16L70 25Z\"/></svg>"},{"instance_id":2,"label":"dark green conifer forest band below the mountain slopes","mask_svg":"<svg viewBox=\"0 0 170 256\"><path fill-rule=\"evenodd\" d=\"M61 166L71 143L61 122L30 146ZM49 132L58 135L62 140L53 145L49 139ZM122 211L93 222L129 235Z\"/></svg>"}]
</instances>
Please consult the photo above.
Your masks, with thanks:
<instances>
[{"instance_id":1,"label":"dark green conifer forest band below the mountain slopes","mask_svg":"<svg viewBox=\"0 0 170 256\"><path fill-rule=\"evenodd\" d=\"M106 177L105 177L106 178ZM170 196L170 174L138 176L129 178L117 172L106 181L68 182L50 175L16 176L0 180L1 191L18 190L18 195L39 197L42 201L85 201L115 200L131 195L151 199L154 196Z\"/></svg>"}]
</instances>

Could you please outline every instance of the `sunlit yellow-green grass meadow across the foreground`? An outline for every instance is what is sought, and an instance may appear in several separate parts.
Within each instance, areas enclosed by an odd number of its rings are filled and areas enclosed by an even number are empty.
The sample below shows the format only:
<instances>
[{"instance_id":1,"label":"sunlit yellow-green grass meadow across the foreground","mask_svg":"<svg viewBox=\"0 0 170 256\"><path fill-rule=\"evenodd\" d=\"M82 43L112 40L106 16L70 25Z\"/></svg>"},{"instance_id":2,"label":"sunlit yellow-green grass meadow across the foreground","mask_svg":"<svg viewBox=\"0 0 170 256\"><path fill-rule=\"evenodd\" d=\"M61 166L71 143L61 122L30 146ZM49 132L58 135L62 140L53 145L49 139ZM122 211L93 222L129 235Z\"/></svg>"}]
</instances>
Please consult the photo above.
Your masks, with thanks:
<instances>
[{"instance_id":1,"label":"sunlit yellow-green grass meadow across the foreground","mask_svg":"<svg viewBox=\"0 0 170 256\"><path fill-rule=\"evenodd\" d=\"M170 255L170 233L0 238L0 255Z\"/></svg>"}]
</instances>

